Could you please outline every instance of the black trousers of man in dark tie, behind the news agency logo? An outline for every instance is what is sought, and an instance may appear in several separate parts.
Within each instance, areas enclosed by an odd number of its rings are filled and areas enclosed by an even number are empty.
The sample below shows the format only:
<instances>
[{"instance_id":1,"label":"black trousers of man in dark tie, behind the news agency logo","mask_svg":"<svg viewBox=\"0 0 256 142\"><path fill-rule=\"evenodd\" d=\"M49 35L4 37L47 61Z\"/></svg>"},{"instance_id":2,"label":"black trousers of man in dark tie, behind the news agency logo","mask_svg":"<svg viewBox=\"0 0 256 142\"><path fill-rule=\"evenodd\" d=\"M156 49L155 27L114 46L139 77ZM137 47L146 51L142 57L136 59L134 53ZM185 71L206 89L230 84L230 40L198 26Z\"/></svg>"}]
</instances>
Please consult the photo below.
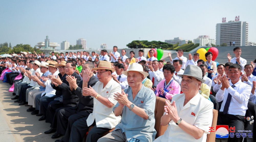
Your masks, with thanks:
<instances>
[{"instance_id":1,"label":"black trousers of man in dark tie, behind the news agency logo","mask_svg":"<svg viewBox=\"0 0 256 142\"><path fill-rule=\"evenodd\" d=\"M223 112L219 112L218 114L217 125L228 125L229 128L235 127L235 134L240 130L244 130L244 122L244 116L230 115L228 113L223 115ZM233 138L229 137L228 142L240 142L242 139L241 136L240 138L237 138L236 136Z\"/></svg>"}]
</instances>

